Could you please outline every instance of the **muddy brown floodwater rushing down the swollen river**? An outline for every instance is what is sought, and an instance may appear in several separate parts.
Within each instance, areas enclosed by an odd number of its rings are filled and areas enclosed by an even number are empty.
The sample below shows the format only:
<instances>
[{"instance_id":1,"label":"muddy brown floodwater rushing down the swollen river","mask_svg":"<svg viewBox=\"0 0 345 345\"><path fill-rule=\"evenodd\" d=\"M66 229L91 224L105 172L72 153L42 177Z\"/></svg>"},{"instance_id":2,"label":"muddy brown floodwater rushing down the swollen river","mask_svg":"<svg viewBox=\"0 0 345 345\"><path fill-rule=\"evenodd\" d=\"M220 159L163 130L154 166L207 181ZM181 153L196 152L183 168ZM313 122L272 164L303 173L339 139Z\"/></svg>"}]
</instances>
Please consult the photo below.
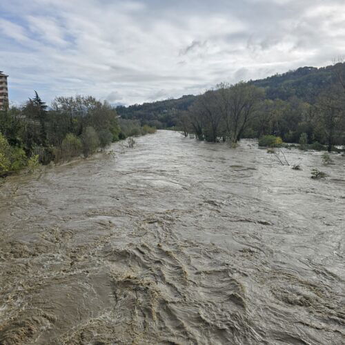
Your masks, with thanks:
<instances>
[{"instance_id":1,"label":"muddy brown floodwater rushing down the swollen river","mask_svg":"<svg viewBox=\"0 0 345 345\"><path fill-rule=\"evenodd\" d=\"M0 187L0 344L345 343L344 157L114 148Z\"/></svg>"}]
</instances>

